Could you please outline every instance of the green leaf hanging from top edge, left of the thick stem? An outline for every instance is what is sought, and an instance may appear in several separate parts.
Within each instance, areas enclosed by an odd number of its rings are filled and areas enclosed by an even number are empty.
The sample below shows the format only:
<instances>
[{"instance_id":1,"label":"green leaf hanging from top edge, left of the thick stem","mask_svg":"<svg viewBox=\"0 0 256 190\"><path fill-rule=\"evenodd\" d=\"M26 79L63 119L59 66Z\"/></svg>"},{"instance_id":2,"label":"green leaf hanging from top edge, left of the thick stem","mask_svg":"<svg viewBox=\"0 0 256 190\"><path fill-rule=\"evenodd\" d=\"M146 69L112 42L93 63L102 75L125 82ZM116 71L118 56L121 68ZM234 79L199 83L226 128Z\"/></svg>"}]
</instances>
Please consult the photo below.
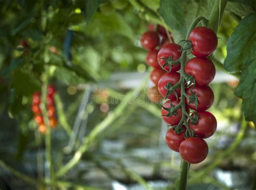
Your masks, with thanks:
<instances>
[{"instance_id":1,"label":"green leaf hanging from top edge, left of the thick stem","mask_svg":"<svg viewBox=\"0 0 256 190\"><path fill-rule=\"evenodd\" d=\"M161 0L159 12L171 29L186 33L187 27L181 1Z\"/></svg>"}]
</instances>

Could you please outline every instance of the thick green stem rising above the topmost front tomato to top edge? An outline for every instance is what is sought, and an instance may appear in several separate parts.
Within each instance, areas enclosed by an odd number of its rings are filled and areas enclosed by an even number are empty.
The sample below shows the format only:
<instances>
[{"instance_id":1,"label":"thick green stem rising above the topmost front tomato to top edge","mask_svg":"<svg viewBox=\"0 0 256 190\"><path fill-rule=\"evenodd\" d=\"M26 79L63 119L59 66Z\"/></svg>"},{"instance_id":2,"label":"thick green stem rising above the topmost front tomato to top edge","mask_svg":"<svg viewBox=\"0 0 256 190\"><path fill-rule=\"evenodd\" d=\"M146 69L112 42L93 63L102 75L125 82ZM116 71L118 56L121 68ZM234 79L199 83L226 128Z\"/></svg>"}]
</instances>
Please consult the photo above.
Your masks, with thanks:
<instances>
[{"instance_id":1,"label":"thick green stem rising above the topmost front tomato to top edge","mask_svg":"<svg viewBox=\"0 0 256 190\"><path fill-rule=\"evenodd\" d=\"M210 27L210 29L212 29L215 33L218 31L226 4L227 0L215 0L213 5L207 26Z\"/></svg>"}]
</instances>

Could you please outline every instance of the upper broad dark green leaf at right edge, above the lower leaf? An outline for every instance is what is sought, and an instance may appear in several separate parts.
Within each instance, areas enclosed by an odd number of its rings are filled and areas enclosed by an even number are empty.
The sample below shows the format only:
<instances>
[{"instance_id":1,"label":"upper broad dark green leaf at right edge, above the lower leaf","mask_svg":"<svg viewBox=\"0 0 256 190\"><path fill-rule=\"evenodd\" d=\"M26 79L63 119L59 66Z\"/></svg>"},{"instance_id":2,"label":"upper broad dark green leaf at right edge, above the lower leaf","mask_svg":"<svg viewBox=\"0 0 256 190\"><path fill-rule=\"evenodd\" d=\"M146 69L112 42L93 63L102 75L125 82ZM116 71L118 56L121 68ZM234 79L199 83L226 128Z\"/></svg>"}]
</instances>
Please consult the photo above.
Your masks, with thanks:
<instances>
[{"instance_id":1,"label":"upper broad dark green leaf at right edge, above the lower leaf","mask_svg":"<svg viewBox=\"0 0 256 190\"><path fill-rule=\"evenodd\" d=\"M256 58L256 13L241 20L227 42L224 67L229 72L240 72L244 65Z\"/></svg>"}]
</instances>

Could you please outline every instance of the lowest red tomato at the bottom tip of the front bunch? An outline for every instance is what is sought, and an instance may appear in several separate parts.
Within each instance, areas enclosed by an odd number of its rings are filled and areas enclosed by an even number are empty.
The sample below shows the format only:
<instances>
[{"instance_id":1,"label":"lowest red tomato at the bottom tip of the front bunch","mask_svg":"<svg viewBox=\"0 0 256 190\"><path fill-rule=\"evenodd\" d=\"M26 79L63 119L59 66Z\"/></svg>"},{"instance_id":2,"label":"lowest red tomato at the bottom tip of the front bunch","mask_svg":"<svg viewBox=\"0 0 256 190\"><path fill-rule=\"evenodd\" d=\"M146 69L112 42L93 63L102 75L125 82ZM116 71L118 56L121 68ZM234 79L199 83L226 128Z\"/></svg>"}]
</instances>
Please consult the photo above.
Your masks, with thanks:
<instances>
[{"instance_id":1,"label":"lowest red tomato at the bottom tip of the front bunch","mask_svg":"<svg viewBox=\"0 0 256 190\"><path fill-rule=\"evenodd\" d=\"M198 164L207 157L208 145L204 139L190 137L180 143L179 152L187 163Z\"/></svg>"}]
</instances>

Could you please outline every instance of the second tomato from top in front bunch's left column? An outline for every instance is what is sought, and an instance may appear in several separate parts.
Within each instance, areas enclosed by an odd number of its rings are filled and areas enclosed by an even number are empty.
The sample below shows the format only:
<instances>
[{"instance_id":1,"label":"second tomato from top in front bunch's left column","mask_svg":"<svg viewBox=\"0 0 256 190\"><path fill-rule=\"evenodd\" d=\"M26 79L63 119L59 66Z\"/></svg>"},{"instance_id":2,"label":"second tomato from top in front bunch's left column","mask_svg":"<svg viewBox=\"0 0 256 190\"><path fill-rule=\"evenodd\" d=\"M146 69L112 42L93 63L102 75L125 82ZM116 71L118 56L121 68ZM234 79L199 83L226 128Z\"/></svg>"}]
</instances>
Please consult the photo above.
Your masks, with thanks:
<instances>
[{"instance_id":1,"label":"second tomato from top in front bunch's left column","mask_svg":"<svg viewBox=\"0 0 256 190\"><path fill-rule=\"evenodd\" d=\"M158 81L158 91L159 93L165 97L167 93L167 89L165 89L165 86L168 84L168 82L171 82L172 85L175 85L177 82L179 82L180 74L177 72L170 72L166 73L163 76L161 76L160 80ZM180 87L175 89L178 97L180 96ZM170 100L173 100L176 98L174 93L171 93L169 97L167 97Z\"/></svg>"}]
</instances>

